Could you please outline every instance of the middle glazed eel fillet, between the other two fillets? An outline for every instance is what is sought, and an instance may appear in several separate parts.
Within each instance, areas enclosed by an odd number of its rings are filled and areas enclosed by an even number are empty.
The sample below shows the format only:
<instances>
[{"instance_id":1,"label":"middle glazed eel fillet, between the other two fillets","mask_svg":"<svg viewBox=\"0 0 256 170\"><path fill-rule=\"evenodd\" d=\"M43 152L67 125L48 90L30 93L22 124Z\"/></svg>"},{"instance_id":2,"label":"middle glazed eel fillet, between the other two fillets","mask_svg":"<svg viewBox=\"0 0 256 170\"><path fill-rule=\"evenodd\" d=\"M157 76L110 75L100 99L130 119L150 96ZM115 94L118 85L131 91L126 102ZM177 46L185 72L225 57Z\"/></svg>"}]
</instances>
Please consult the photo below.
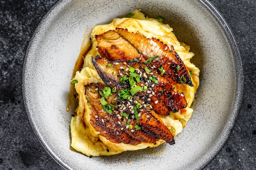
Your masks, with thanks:
<instances>
[{"instance_id":1,"label":"middle glazed eel fillet, between the other two fillets","mask_svg":"<svg viewBox=\"0 0 256 170\"><path fill-rule=\"evenodd\" d=\"M129 75L128 67L135 68L136 73L140 74L140 82L136 85L143 86L145 82L148 82L148 87L150 87L146 92L139 92L136 95L145 103L150 104L157 114L166 116L170 114L170 111L177 112L186 107L186 98L183 93L175 92L169 81L160 76L155 69L150 68L150 74L146 72L145 67L147 65L145 63L135 61L125 62L126 64L119 62L117 64L116 61L110 62L99 56L92 57L92 63L103 82L111 88L117 87L117 90L122 89L123 86L130 88L128 79L124 82L119 81L119 79L122 77L121 75ZM111 67L107 67L108 64L111 64ZM155 75L158 81L157 84L147 81L148 77L152 75Z\"/></svg>"}]
</instances>

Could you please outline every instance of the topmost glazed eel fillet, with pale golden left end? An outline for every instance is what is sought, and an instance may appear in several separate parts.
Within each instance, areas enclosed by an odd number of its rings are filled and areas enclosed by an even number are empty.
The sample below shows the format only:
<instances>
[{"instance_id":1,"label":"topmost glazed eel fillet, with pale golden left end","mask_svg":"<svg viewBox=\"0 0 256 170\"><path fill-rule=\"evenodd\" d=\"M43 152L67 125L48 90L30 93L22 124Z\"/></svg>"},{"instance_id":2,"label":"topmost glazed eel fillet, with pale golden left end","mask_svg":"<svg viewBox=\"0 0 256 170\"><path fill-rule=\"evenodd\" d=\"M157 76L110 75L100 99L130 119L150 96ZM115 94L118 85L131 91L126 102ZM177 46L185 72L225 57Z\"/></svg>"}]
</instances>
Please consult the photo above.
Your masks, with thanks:
<instances>
[{"instance_id":1,"label":"topmost glazed eel fillet, with pale golden left end","mask_svg":"<svg viewBox=\"0 0 256 170\"><path fill-rule=\"evenodd\" d=\"M139 32L128 32L127 29L121 28L109 30L95 37L101 57L110 61L121 59L125 62L136 58L144 62L150 57L159 56L150 65L155 65L157 68L163 67L164 78L173 85L184 83L193 86L189 72L173 46L170 49L168 45L156 38L146 38ZM161 73L159 70L157 72Z\"/></svg>"}]
</instances>

